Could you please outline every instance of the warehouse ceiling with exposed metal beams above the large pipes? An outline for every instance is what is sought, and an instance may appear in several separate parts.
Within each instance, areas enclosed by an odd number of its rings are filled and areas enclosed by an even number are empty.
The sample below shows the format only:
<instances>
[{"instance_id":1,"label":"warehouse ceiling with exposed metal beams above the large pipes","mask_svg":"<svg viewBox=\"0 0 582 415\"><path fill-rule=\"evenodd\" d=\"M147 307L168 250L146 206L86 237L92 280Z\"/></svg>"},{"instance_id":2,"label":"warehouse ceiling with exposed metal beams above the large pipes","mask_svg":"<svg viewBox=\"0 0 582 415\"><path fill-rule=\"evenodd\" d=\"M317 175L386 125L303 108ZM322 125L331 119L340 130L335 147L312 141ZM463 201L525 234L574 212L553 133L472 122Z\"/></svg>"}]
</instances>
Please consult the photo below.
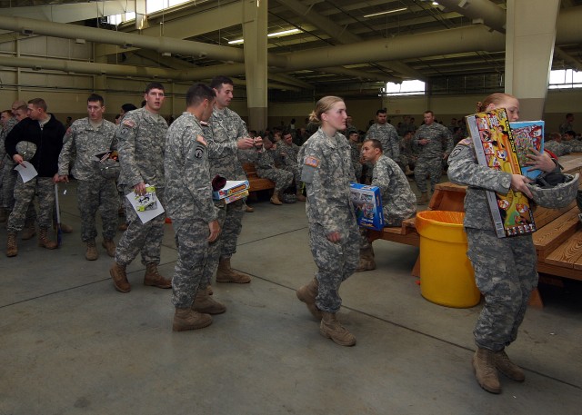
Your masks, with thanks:
<instances>
[{"instance_id":1,"label":"warehouse ceiling with exposed metal beams above the large pipes","mask_svg":"<svg viewBox=\"0 0 582 415\"><path fill-rule=\"evenodd\" d=\"M261 0L257 0L261 1ZM229 44L243 38L243 28L238 21L240 15L233 15L232 10L241 0L198 0L174 8L166 8L160 12L147 15L143 30L135 29L135 24L108 25L106 19L108 10L113 5L125 8L134 5L133 1L35 1L35 0L0 0L0 7L6 13L26 11L25 17L53 20L60 23L76 23L93 25L103 29L117 30L133 34L149 36L178 37L203 44L215 44L223 47L242 49L244 44ZM276 35L269 37L268 54L299 56L308 51L349 44L362 44L370 47L370 42L382 39L409 38L416 39L415 35L438 34L455 31L459 28L472 28L476 25L485 25L491 28L490 32L503 33L503 23L493 19L492 15L499 15L499 11L506 8L505 0L471 0L467 2L473 6L461 9L454 5L463 4L461 0L442 0L439 5L425 0L268 0L268 34L295 29L291 35ZM479 11L479 7L486 3L488 6ZM447 7L445 6L447 5ZM490 6L493 5L493 10ZM561 12L568 8L582 6L582 0L562 0ZM477 15L476 15L477 7ZM66 10L83 9L83 21L75 22L75 17L65 16ZM87 18L95 10L94 17ZM132 10L131 7L126 10ZM224 11L224 14L221 14ZM4 14L0 12L0 15ZM36 13L37 12L37 13ZM386 13L391 12L391 13ZM110 12L114 13L114 12ZM35 16L36 15L36 16ZM81 15L81 14L79 14ZM481 16L482 15L482 16ZM47 17L48 16L48 17ZM559 29L559 27L558 27ZM326 53L314 54L309 64L296 64L303 67L290 69L277 68L274 65L270 70L271 80L276 79L278 88L285 84L296 88L326 89L335 87L360 87L362 84L378 82L400 82L407 79L422 79L430 81L436 78L455 78L467 75L501 75L504 72L505 51L475 50L457 52L450 48L447 53L447 37L435 54L426 52L415 53L415 45L410 47L405 57L397 59L367 59L345 64L326 65ZM452 39L452 38L451 38ZM559 44L553 61L554 69L582 68L582 39ZM422 41L419 41L422 42ZM453 43L453 41L450 41ZM453 46L451 44L450 46ZM374 46L371 46L374 47ZM420 48L419 48L420 49ZM494 48L495 49L495 48ZM111 50L115 51L112 53ZM111 49L108 62L115 64L129 64L155 66L171 70L187 70L192 68L211 69L224 68L225 64L236 64L231 60L217 59L206 54L162 53L147 50L146 48ZM378 54L381 51L378 51ZM369 51L372 56L373 51ZM349 57L349 56L348 56ZM347 59L349 61L349 59ZM240 67L240 64L238 64ZM216 69L220 71L220 69ZM232 74L244 80L244 71ZM281 86L283 85L283 86Z\"/></svg>"}]
</instances>

